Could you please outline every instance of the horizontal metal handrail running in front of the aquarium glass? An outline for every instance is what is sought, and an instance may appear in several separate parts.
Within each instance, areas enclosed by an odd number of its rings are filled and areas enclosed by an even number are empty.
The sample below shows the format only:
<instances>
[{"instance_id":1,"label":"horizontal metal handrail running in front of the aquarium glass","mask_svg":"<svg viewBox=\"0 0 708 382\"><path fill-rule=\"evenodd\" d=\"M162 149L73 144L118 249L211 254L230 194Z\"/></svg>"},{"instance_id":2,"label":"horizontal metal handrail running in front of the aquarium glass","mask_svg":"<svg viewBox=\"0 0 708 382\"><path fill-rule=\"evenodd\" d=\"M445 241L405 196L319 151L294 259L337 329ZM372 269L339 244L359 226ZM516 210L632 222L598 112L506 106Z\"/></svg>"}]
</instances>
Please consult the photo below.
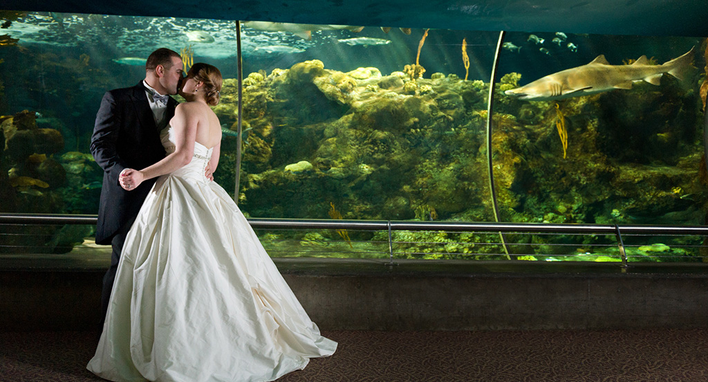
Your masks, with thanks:
<instances>
[{"instance_id":1,"label":"horizontal metal handrail running in front of the aquarium glass","mask_svg":"<svg viewBox=\"0 0 708 382\"><path fill-rule=\"evenodd\" d=\"M96 224L97 215L0 213L0 224ZM614 225L572 223L436 222L402 220L326 220L248 218L253 228L318 228L331 230L460 231L615 235L707 235L704 225Z\"/></svg>"}]
</instances>

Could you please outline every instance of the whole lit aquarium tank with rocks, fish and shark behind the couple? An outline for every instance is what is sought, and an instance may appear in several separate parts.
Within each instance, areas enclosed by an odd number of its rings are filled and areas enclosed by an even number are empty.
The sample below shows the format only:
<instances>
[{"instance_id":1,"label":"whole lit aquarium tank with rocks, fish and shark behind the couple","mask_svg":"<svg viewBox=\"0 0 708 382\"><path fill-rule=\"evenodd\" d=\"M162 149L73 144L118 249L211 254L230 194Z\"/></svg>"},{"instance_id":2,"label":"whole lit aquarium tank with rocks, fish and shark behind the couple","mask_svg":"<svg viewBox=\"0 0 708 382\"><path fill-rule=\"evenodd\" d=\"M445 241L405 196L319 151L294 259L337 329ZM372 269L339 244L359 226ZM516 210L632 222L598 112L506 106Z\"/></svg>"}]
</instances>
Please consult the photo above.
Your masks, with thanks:
<instances>
[{"instance_id":1,"label":"whole lit aquarium tank with rocks, fish and shark behind the couple","mask_svg":"<svg viewBox=\"0 0 708 382\"><path fill-rule=\"evenodd\" d=\"M135 85L147 55L169 47L185 69L207 62L223 74L215 181L249 218L705 223L704 37L0 18L1 213L96 214L103 172L89 145L103 94ZM91 225L3 230L4 253L95 247ZM258 233L282 257L619 260L613 235ZM624 240L633 261L708 256L700 236Z\"/></svg>"}]
</instances>

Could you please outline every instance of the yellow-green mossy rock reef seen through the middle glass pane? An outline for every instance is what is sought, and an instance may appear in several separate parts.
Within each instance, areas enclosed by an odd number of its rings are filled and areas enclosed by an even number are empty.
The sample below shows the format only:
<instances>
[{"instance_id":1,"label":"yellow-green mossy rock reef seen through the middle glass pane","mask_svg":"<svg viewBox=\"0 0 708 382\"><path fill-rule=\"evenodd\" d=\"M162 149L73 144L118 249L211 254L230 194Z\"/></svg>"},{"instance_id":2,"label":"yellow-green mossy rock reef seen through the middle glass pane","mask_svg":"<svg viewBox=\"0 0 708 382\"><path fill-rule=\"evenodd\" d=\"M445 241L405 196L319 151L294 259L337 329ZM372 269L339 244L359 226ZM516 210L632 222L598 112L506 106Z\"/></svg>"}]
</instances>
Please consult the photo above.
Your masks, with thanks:
<instances>
[{"instance_id":1,"label":"yellow-green mossy rock reef seen through the middle glass pane","mask_svg":"<svg viewBox=\"0 0 708 382\"><path fill-rule=\"evenodd\" d=\"M449 217L484 204L477 186L483 182L472 180L483 176L484 163L464 162L481 145L482 121L469 110L484 107L484 86L434 77L412 82L375 68L342 73L317 60L249 75L242 208L257 216L320 218L336 200L346 218L409 219L418 206ZM408 84L416 85L412 92ZM236 106L228 102L236 91L229 85L217 107L227 125L235 122ZM452 147L470 153L452 157ZM286 169L303 159L311 171L295 176ZM292 198L308 203L278 203Z\"/></svg>"}]
</instances>

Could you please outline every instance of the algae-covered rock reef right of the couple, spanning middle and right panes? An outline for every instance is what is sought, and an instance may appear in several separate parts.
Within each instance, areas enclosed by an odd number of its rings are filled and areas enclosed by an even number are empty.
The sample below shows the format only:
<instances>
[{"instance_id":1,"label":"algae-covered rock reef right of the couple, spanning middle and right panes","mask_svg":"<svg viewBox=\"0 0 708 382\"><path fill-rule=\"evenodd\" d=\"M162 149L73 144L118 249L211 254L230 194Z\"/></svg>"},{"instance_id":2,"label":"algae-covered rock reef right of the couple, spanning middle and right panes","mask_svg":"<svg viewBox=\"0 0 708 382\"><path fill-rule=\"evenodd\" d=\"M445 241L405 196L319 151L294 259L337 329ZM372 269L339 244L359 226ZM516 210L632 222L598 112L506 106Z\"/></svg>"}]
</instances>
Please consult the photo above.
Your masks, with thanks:
<instances>
[{"instance_id":1,"label":"algae-covered rock reef right of the couple, spanning middle and right panes","mask_svg":"<svg viewBox=\"0 0 708 382\"><path fill-rule=\"evenodd\" d=\"M326 218L335 202L345 219L493 220L484 139L489 84L441 73L416 80L372 68L343 73L317 60L247 79L239 195L246 213ZM557 103L503 94L519 80L506 74L495 89L492 157L502 220L703 222L695 94L671 79ZM217 114L235 130L229 81ZM292 171L301 161L312 169Z\"/></svg>"}]
</instances>

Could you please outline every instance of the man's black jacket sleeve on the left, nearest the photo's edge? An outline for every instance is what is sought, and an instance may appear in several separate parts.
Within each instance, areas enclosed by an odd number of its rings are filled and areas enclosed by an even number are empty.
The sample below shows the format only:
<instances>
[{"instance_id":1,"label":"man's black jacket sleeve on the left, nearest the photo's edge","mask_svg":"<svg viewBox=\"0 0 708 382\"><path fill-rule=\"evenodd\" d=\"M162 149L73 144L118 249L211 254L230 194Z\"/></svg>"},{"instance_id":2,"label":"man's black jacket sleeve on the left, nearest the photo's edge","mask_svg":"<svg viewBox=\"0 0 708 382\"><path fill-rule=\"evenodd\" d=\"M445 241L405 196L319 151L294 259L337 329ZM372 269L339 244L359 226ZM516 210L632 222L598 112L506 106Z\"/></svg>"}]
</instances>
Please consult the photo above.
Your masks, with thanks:
<instances>
[{"instance_id":1,"label":"man's black jacket sleeve on the left, nearest the photo's edge","mask_svg":"<svg viewBox=\"0 0 708 382\"><path fill-rule=\"evenodd\" d=\"M118 174L127 167L116 150L121 122L120 111L117 109L115 96L110 91L106 92L91 135L91 155L115 184L118 184Z\"/></svg>"}]
</instances>

